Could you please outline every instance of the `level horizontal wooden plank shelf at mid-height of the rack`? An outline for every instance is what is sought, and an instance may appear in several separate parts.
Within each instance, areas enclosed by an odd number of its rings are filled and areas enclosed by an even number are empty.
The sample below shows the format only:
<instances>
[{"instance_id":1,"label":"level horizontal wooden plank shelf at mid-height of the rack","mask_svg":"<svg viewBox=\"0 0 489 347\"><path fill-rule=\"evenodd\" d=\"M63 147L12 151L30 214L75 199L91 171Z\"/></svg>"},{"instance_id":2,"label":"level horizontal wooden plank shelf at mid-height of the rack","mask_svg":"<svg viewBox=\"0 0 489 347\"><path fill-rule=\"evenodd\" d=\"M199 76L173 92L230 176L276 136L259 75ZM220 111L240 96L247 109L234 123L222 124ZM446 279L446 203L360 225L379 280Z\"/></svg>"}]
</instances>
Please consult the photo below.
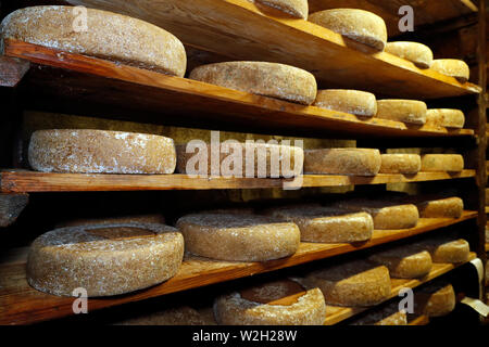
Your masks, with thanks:
<instances>
[{"instance_id":1,"label":"level horizontal wooden plank shelf at mid-height of the rack","mask_svg":"<svg viewBox=\"0 0 489 347\"><path fill-rule=\"evenodd\" d=\"M459 174L419 172L417 175L379 174L375 177L341 175L304 175L302 188L341 187L351 184L385 184L423 182L475 177L474 170ZM187 175L109 175L109 174L46 174L35 171L1 171L0 192L79 192L136 190L213 190L284 188L291 179L209 177Z\"/></svg>"}]
</instances>

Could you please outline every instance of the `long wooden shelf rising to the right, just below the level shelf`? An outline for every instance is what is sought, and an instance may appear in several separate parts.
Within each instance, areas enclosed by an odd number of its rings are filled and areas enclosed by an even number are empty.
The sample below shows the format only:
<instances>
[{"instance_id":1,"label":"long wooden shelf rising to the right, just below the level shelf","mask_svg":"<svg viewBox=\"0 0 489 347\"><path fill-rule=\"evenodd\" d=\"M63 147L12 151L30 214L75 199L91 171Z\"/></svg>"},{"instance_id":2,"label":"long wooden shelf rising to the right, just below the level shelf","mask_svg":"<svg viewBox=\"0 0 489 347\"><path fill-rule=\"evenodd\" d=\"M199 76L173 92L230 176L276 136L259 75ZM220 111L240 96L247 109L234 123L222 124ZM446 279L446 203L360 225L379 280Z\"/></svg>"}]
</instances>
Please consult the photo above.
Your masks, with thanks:
<instances>
[{"instance_id":1,"label":"long wooden shelf rising to the right, just below the level shelf","mask_svg":"<svg viewBox=\"0 0 489 347\"><path fill-rule=\"evenodd\" d=\"M127 295L89 299L88 309L92 311L325 259L452 226L476 216L475 211L465 211L460 219L421 219L412 229L376 230L371 241L355 245L302 243L293 256L266 262L229 262L187 256L179 272L168 281ZM0 324L34 323L73 314L73 298L45 294L27 284L26 255L27 248L8 256L3 255L0 265ZM439 272L448 271L449 268L449 266L443 267ZM344 308L338 308L335 312L337 313L330 318L331 321L339 321L342 317L346 319L353 313Z\"/></svg>"}]
</instances>

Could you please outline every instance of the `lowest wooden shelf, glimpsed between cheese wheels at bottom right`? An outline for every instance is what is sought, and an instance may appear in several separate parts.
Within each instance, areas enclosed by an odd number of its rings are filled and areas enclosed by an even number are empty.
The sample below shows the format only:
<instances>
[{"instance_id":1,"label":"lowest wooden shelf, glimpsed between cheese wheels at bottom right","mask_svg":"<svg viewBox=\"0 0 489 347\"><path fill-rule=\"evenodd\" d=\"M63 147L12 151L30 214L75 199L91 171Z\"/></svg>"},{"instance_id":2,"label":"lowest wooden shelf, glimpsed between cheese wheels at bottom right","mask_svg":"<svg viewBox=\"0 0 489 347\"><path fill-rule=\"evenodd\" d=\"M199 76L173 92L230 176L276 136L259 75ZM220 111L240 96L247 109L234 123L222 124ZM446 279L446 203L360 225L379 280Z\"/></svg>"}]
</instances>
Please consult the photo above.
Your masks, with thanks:
<instances>
[{"instance_id":1,"label":"lowest wooden shelf, glimpsed between cheese wheels at bottom right","mask_svg":"<svg viewBox=\"0 0 489 347\"><path fill-rule=\"evenodd\" d=\"M471 253L469 260L475 259L477 256L475 253ZM415 288L423 283L429 282L453 269L462 266L452 264L434 264L431 271L423 279L417 280L404 280L404 279L391 279L391 294L389 299L394 298L399 295L402 288L410 287ZM386 300L387 301L387 300ZM326 321L325 325L337 324L346 319L349 319L355 314L366 311L368 308L365 307L337 307L337 306L326 306Z\"/></svg>"}]
</instances>

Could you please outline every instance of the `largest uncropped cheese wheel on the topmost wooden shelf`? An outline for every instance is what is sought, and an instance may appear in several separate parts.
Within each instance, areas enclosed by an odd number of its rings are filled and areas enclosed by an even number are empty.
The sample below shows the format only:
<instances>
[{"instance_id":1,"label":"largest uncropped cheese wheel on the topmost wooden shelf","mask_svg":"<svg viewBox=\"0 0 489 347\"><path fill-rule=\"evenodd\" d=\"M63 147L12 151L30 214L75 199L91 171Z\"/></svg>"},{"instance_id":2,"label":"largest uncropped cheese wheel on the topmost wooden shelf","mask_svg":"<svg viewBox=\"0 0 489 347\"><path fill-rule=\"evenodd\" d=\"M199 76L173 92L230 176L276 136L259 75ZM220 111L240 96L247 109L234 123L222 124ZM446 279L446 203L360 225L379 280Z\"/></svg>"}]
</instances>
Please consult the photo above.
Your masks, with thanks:
<instances>
[{"instance_id":1,"label":"largest uncropped cheese wheel on the topmost wooden shelf","mask_svg":"<svg viewBox=\"0 0 489 347\"><path fill-rule=\"evenodd\" d=\"M378 15L358 9L333 9L311 14L309 21L377 51L387 44L386 23Z\"/></svg>"}]
</instances>

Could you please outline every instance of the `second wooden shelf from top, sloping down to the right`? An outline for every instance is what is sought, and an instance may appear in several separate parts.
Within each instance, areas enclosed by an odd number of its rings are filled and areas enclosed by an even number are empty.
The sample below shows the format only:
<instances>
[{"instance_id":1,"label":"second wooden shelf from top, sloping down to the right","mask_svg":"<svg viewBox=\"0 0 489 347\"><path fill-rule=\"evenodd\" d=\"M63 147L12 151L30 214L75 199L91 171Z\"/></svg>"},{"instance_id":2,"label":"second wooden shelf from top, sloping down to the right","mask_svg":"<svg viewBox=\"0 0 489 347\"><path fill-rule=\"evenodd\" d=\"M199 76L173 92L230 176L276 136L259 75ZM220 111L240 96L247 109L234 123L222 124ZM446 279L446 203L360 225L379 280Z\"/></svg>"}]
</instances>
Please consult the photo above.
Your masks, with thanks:
<instances>
[{"instance_id":1,"label":"second wooden shelf from top, sloping down to the right","mask_svg":"<svg viewBox=\"0 0 489 347\"><path fill-rule=\"evenodd\" d=\"M202 128L218 124L226 129L241 131L286 131L322 138L474 136L472 129L449 130L378 118L361 119L351 114L303 106L20 41L5 40L5 54L33 63L22 90L33 107L50 111ZM322 66L328 65L324 64L324 59L321 61ZM380 67L376 69L381 70ZM390 89L404 86L394 85ZM431 87L427 85L417 90L431 90ZM464 88L461 90L466 91ZM51 110L53 100L55 110Z\"/></svg>"}]
</instances>

